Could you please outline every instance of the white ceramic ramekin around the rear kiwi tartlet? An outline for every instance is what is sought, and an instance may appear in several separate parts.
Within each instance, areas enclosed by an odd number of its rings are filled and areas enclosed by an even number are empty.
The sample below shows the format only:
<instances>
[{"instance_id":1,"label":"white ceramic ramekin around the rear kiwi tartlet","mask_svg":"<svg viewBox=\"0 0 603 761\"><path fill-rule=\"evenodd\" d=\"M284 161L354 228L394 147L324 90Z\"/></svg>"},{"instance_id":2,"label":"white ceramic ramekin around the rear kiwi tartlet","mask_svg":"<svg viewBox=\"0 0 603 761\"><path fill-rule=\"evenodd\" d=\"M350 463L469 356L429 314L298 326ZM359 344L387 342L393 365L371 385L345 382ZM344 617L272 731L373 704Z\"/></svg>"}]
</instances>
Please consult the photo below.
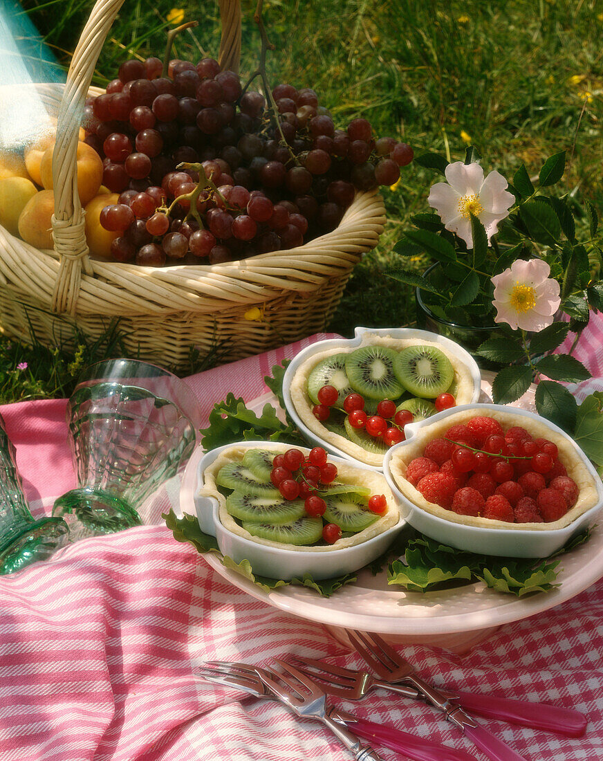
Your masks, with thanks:
<instances>
[{"instance_id":1,"label":"white ceramic ramekin around the rear kiwi tartlet","mask_svg":"<svg viewBox=\"0 0 603 761\"><path fill-rule=\"evenodd\" d=\"M287 370L284 374L283 396L287 412L289 413L291 419L293 419L295 422L295 425L297 425L297 428L300 429L303 436L308 441L311 441L313 446L324 447L325 450L327 450L330 454L335 454L338 455L338 457L344 457L354 463L360 463L363 465L366 465L367 463L361 463L360 460L356 460L354 457L352 457L351 454L341 451L341 449L336 447L334 444L331 444L328 441L323 441L322 438L307 428L303 420L300 419L300 416L297 414L297 410L295 409L293 400L291 399L290 387L291 381L293 380L297 369L300 367L300 365L303 364L303 362L305 362L310 357L313 357L313 355L319 354L320 352L325 352L328 349L356 349L363 342L363 339L366 339L370 336L391 336L394 339L422 339L424 341L435 343L440 346L443 352L448 355L452 355L462 361L462 363L471 372L471 380L473 380L473 394L471 396L471 402L478 401L480 398L481 389L480 368L478 368L478 363L469 354L469 352L465 351L462 346L459 346L458 343L451 341L445 336L438 336L436 333L430 333L427 330L418 330L417 328L358 327L354 330L354 338L352 339L327 339L326 341L318 341L309 346L306 346L306 349L303 349L303 351L295 355L295 357L290 361L290 365L287 367ZM369 465L368 467L373 468L373 470L383 470L382 467L377 467L374 465Z\"/></svg>"}]
</instances>

